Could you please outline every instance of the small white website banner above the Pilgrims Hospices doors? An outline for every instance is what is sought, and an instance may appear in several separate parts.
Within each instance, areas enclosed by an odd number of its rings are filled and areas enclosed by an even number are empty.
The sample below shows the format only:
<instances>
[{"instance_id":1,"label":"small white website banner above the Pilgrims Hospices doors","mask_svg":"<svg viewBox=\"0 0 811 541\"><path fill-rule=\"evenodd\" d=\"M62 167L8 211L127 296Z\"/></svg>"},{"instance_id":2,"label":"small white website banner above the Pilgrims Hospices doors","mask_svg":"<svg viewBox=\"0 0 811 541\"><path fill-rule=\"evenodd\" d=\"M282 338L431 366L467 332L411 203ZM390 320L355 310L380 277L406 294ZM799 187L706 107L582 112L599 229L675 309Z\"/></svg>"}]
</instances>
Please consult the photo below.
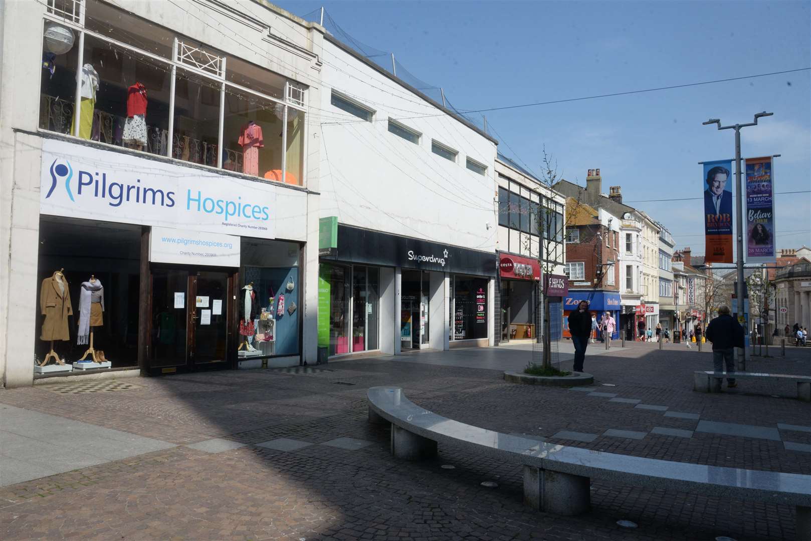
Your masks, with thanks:
<instances>
[{"instance_id":1,"label":"small white website banner above the Pilgrims Hospices doors","mask_svg":"<svg viewBox=\"0 0 811 541\"><path fill-rule=\"evenodd\" d=\"M239 237L152 226L149 260L155 263L238 267ZM208 303L205 306L208 307Z\"/></svg>"}]
</instances>

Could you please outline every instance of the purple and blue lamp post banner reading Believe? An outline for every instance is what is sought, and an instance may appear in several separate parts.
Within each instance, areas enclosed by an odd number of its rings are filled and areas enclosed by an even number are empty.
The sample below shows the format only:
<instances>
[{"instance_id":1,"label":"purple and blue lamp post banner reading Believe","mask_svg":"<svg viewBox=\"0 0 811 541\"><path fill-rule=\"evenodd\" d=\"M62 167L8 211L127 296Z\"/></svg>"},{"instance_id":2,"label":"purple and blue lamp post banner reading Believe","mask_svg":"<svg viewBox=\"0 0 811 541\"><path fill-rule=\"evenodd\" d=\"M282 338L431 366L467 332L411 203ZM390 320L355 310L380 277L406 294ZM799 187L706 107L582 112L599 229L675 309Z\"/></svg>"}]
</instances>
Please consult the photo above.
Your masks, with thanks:
<instances>
[{"instance_id":1,"label":"purple and blue lamp post banner reading Believe","mask_svg":"<svg viewBox=\"0 0 811 541\"><path fill-rule=\"evenodd\" d=\"M746 260L774 263L775 182L771 157L746 160Z\"/></svg>"}]
</instances>

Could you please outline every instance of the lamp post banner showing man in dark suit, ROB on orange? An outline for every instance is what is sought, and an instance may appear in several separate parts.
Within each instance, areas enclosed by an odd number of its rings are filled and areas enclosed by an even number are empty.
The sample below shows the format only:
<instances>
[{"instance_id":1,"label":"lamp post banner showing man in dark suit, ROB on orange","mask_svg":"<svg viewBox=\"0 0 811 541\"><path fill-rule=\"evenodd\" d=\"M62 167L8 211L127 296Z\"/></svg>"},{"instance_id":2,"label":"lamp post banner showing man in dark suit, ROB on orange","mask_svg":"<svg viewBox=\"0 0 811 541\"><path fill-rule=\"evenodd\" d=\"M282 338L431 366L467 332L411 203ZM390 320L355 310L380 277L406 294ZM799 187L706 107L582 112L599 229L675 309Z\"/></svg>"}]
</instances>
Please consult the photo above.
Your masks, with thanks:
<instances>
[{"instance_id":1,"label":"lamp post banner showing man in dark suit, ROB on orange","mask_svg":"<svg viewBox=\"0 0 811 541\"><path fill-rule=\"evenodd\" d=\"M732 263L732 160L703 165L705 260Z\"/></svg>"}]
</instances>

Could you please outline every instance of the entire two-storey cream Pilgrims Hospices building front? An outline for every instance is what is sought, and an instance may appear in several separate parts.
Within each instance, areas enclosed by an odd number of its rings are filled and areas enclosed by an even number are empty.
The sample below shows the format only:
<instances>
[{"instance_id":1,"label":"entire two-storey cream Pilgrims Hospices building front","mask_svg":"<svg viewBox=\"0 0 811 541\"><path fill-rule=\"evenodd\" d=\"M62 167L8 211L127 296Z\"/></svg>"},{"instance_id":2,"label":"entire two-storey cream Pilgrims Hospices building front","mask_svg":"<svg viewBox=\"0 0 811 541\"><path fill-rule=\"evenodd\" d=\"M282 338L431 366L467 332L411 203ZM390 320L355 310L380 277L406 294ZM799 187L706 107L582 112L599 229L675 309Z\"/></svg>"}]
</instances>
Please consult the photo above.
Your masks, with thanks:
<instances>
[{"instance_id":1,"label":"entire two-storey cream Pilgrims Hospices building front","mask_svg":"<svg viewBox=\"0 0 811 541\"><path fill-rule=\"evenodd\" d=\"M3 383L315 362L323 28L247 0L0 24Z\"/></svg>"}]
</instances>

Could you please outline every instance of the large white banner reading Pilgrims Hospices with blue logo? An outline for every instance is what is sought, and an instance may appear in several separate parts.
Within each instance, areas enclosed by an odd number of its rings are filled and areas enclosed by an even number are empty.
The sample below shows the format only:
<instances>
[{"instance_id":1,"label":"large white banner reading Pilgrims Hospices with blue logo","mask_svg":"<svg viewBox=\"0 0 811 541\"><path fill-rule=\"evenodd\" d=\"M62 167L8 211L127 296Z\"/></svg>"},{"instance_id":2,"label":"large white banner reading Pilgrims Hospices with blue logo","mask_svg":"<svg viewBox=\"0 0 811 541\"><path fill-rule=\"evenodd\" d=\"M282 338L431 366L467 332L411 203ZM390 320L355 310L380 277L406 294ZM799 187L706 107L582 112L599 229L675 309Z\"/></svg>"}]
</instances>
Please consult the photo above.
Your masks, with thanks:
<instances>
[{"instance_id":1,"label":"large white banner reading Pilgrims Hospices with blue logo","mask_svg":"<svg viewBox=\"0 0 811 541\"><path fill-rule=\"evenodd\" d=\"M43 214L274 238L277 189L215 171L42 141Z\"/></svg>"}]
</instances>

